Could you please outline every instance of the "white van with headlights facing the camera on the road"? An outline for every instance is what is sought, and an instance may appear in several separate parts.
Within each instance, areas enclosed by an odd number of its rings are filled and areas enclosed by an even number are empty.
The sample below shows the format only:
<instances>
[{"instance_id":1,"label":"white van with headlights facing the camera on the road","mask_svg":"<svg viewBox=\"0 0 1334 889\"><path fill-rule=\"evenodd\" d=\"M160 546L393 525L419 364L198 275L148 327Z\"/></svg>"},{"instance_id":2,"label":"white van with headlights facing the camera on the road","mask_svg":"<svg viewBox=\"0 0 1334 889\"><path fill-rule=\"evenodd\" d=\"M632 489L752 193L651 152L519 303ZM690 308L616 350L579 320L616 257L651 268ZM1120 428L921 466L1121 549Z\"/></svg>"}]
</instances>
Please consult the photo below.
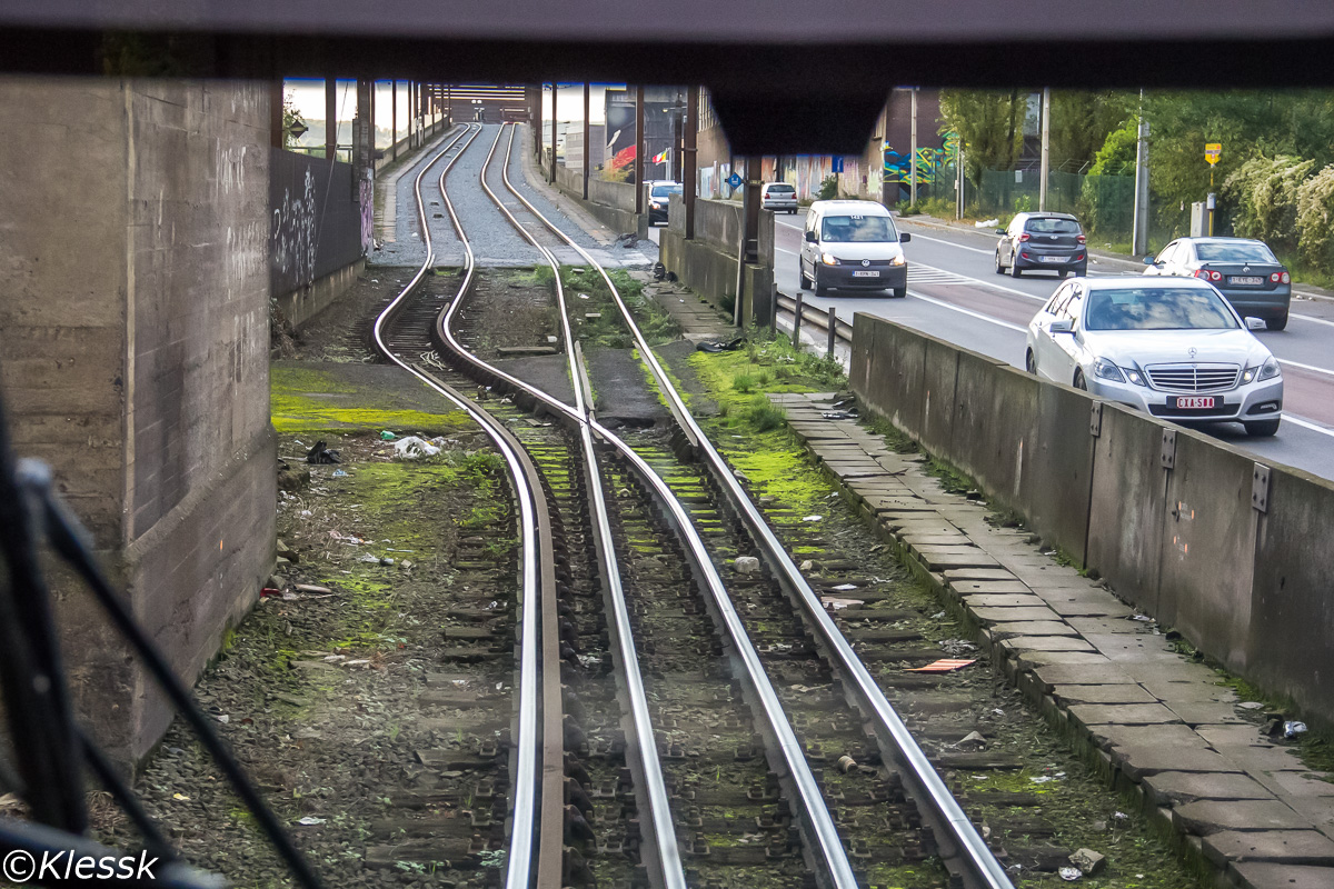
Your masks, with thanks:
<instances>
[{"instance_id":1,"label":"white van with headlights facing the camera on the road","mask_svg":"<svg viewBox=\"0 0 1334 889\"><path fill-rule=\"evenodd\" d=\"M875 201L815 201L806 215L798 260L802 289L816 296L839 291L892 291L908 295L908 264L890 211Z\"/></svg>"}]
</instances>

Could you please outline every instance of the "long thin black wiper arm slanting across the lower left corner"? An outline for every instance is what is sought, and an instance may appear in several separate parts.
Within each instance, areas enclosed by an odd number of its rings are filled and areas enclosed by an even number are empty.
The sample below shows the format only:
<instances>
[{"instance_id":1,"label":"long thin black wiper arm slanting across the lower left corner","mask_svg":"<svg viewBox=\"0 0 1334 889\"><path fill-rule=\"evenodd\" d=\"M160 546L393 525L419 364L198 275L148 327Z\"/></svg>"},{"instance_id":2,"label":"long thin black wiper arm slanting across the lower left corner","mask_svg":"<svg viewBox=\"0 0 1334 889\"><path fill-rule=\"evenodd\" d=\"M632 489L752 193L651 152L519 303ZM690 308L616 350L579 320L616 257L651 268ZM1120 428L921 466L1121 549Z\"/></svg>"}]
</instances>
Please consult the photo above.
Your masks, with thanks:
<instances>
[{"instance_id":1,"label":"long thin black wiper arm slanting across the lower left corner","mask_svg":"<svg viewBox=\"0 0 1334 889\"><path fill-rule=\"evenodd\" d=\"M73 516L73 513L71 513L64 502L61 502L51 490L49 470L47 470L40 462L25 460L20 462L17 474L20 485L28 485L31 489L40 492L41 494L41 500L45 506L45 530L48 538L51 540L51 545L83 576L85 581L88 581L88 585L92 588L97 601L105 609L107 616L111 617L116 629L120 630L120 633L144 660L148 670L153 674L153 678L157 680L157 685L163 689L167 697L171 698L176 712L180 713L180 716L195 730L195 734L208 750L209 756L213 757L219 768L221 768L223 773L227 776L232 789L236 790L236 796L241 798L245 808L255 816L255 820L268 836L273 849L277 850L279 856L287 862L287 866L291 868L292 873L297 878L297 882L307 889L320 889L320 881L315 876L315 872L311 869L304 856L301 856L296 846L292 845L287 832L277 822L276 816L273 816L269 808L264 804L264 800L260 797L259 790L255 789L255 785L252 785L249 778L245 777L245 772L241 769L240 764L232 758L231 752L223 744L221 738L213 733L208 717L205 717L203 710L200 710L193 696L185 689L184 685L180 684L176 678L176 673L167 664L161 652L157 650L157 646L153 645L152 640L144 634L139 624L135 622L129 612L125 610L120 597L103 576L101 568L92 557L92 548L87 540L87 532L79 524L79 520Z\"/></svg>"}]
</instances>

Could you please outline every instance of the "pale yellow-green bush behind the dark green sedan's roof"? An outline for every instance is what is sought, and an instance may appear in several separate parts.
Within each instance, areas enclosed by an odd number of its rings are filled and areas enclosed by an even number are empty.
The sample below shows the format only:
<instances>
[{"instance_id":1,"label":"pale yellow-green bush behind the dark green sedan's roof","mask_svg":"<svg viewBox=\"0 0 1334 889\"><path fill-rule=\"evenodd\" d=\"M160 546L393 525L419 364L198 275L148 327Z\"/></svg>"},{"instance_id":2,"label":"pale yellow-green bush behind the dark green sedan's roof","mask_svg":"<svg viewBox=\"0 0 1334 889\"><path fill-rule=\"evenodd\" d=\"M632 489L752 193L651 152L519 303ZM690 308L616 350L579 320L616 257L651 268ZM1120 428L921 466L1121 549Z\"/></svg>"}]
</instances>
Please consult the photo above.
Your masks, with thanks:
<instances>
[{"instance_id":1,"label":"pale yellow-green bush behind the dark green sedan's roof","mask_svg":"<svg viewBox=\"0 0 1334 889\"><path fill-rule=\"evenodd\" d=\"M1297 191L1314 160L1290 155L1253 157L1223 181L1222 197L1234 207L1233 228L1279 252L1297 247Z\"/></svg>"}]
</instances>

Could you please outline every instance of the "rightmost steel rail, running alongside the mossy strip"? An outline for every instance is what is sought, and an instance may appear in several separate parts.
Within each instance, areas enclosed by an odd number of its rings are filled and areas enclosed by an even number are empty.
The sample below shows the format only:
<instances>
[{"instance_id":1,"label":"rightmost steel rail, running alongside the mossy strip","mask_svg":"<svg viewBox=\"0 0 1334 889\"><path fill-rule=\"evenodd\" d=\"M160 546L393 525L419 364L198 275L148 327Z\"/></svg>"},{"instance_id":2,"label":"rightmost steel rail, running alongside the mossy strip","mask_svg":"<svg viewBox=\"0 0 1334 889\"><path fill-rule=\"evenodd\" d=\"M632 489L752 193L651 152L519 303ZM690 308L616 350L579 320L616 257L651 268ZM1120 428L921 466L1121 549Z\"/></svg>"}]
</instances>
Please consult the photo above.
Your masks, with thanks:
<instances>
[{"instance_id":1,"label":"rightmost steel rail, running alongside the mossy strip","mask_svg":"<svg viewBox=\"0 0 1334 889\"><path fill-rule=\"evenodd\" d=\"M659 391L668 400L670 404L675 405L672 415L678 419L678 423L686 424L683 431L687 435L692 435L696 441L696 446L704 454L707 465L711 469L711 474L715 481L724 489L728 500L732 502L742 520L746 522L747 528L760 542L764 550L766 561L778 570L780 580L784 585L798 597L807 617L812 621L820 638L824 641L827 650L831 653L838 666L840 666L852 680L854 693L858 700L862 701L864 708L874 716L872 724L876 732L876 737L883 746L888 746L888 752L899 761L904 768L904 778L908 782L908 789L919 804L926 804L930 806L931 812L926 813L934 816L936 821L946 830L946 837L952 840L955 849L948 849L942 844L942 858L947 864L960 864L962 877L970 881L971 886L984 888L984 889L1014 889L1010 882L1010 877L1006 874L1005 868L996 861L995 856L987 848L982 836L978 833L976 828L968 820L968 816L959 806L958 800L950 793L950 789L944 785L944 781L936 773L935 768L927 760L926 753L918 745L916 738L908 730L907 725L895 712L894 706L884 697L884 692L875 682L875 678L862 664L862 658L856 656L852 646L848 644L847 638L839 632L834 620L828 616L822 605L819 596L811 589L811 585L806 582L806 577L798 569L796 562L792 561L787 550L783 548L782 541L768 526L764 520L763 513L750 498L750 494L742 488L740 482L732 474L731 468L727 461L712 445L708 437L700 429L699 424L691 416L690 411L686 408L680 393L676 392L675 385L672 385L671 379L663 371L662 365L658 363L656 356L648 348L647 340L644 340L639 325L635 324L635 319L626 305L624 300L620 297L620 292L616 289L615 284L611 281L611 276L602 268L592 256L579 247L574 239L562 232L558 227L552 225L542 213L536 211L522 195L515 192L520 201L540 219L547 228L556 233L562 240L564 240L570 247L579 252L579 255L598 272L602 275L603 281L606 281L612 297L624 317L626 325L634 336L635 344L639 348L640 359L648 365L658 383Z\"/></svg>"}]
</instances>

